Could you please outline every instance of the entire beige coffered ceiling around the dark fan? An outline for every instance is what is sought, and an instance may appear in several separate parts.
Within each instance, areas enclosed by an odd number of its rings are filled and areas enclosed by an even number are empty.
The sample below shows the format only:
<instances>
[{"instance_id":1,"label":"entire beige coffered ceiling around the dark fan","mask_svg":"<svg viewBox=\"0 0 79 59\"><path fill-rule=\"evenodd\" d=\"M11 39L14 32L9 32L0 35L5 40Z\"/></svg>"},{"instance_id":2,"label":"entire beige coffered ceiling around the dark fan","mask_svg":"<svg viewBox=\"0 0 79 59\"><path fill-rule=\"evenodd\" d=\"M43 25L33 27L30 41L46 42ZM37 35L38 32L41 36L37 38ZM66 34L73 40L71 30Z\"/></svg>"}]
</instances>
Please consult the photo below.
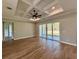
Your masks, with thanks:
<instances>
[{"instance_id":1,"label":"entire beige coffered ceiling around the dark fan","mask_svg":"<svg viewBox=\"0 0 79 59\"><path fill-rule=\"evenodd\" d=\"M76 0L2 0L3 18L31 21L30 12L35 8L42 18L47 18L68 10L76 10ZM8 9L8 7L10 9Z\"/></svg>"}]
</instances>

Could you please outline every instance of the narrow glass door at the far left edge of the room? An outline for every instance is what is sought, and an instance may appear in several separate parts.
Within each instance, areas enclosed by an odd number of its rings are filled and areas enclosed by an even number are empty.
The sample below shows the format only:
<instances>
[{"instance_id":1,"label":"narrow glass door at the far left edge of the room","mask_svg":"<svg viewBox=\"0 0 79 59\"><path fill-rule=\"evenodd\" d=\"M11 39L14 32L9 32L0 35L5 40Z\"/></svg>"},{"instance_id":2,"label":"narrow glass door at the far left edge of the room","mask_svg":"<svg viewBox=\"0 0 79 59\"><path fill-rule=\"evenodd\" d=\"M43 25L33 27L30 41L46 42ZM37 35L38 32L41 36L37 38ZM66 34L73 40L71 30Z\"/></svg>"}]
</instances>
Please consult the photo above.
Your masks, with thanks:
<instances>
[{"instance_id":1,"label":"narrow glass door at the far left edge of the room","mask_svg":"<svg viewBox=\"0 0 79 59\"><path fill-rule=\"evenodd\" d=\"M11 40L13 39L13 30L12 30L12 23L3 23L3 37L4 40Z\"/></svg>"}]
</instances>

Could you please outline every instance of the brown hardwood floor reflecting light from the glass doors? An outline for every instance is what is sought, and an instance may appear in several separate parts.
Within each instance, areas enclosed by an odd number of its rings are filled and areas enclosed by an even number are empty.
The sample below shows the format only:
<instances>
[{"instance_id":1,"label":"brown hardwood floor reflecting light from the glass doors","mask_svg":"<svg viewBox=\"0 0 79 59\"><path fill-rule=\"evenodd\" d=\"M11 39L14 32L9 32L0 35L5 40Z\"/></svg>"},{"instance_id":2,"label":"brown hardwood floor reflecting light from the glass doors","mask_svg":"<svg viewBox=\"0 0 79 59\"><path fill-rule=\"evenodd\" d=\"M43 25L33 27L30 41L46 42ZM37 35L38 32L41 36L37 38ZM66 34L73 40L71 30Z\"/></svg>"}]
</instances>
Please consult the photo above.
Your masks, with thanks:
<instances>
[{"instance_id":1,"label":"brown hardwood floor reflecting light from the glass doors","mask_svg":"<svg viewBox=\"0 0 79 59\"><path fill-rule=\"evenodd\" d=\"M76 47L41 38L3 42L2 48L3 59L77 59Z\"/></svg>"}]
</instances>

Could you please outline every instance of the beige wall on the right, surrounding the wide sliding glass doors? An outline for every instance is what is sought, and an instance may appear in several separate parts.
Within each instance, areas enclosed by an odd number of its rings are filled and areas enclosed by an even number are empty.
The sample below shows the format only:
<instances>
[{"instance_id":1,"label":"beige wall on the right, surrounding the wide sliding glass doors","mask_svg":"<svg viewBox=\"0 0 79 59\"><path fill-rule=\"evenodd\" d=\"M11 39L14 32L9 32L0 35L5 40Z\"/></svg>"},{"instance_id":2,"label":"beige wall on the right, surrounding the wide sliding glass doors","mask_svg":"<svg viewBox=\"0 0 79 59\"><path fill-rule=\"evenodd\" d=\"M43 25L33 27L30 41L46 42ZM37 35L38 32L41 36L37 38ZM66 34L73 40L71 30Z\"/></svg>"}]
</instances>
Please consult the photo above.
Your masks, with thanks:
<instances>
[{"instance_id":1,"label":"beige wall on the right, surrounding the wide sliding glass doors","mask_svg":"<svg viewBox=\"0 0 79 59\"><path fill-rule=\"evenodd\" d=\"M55 19L50 19L50 21L45 21L43 23L49 22L60 22L60 39L62 42L76 45L77 41L77 16L76 13L71 13L62 17Z\"/></svg>"}]
</instances>

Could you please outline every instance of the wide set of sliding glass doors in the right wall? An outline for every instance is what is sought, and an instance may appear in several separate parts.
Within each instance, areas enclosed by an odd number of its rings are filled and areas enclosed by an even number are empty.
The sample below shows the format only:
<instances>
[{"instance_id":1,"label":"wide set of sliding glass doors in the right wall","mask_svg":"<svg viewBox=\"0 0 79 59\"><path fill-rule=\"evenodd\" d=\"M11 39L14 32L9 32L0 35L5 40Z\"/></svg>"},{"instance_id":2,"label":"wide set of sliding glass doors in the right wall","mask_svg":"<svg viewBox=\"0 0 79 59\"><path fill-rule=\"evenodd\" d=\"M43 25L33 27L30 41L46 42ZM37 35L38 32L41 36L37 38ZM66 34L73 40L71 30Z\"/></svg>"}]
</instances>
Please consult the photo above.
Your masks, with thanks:
<instances>
[{"instance_id":1,"label":"wide set of sliding glass doors in the right wall","mask_svg":"<svg viewBox=\"0 0 79 59\"><path fill-rule=\"evenodd\" d=\"M39 25L39 35L41 38L50 40L60 40L60 23L47 23Z\"/></svg>"}]
</instances>

